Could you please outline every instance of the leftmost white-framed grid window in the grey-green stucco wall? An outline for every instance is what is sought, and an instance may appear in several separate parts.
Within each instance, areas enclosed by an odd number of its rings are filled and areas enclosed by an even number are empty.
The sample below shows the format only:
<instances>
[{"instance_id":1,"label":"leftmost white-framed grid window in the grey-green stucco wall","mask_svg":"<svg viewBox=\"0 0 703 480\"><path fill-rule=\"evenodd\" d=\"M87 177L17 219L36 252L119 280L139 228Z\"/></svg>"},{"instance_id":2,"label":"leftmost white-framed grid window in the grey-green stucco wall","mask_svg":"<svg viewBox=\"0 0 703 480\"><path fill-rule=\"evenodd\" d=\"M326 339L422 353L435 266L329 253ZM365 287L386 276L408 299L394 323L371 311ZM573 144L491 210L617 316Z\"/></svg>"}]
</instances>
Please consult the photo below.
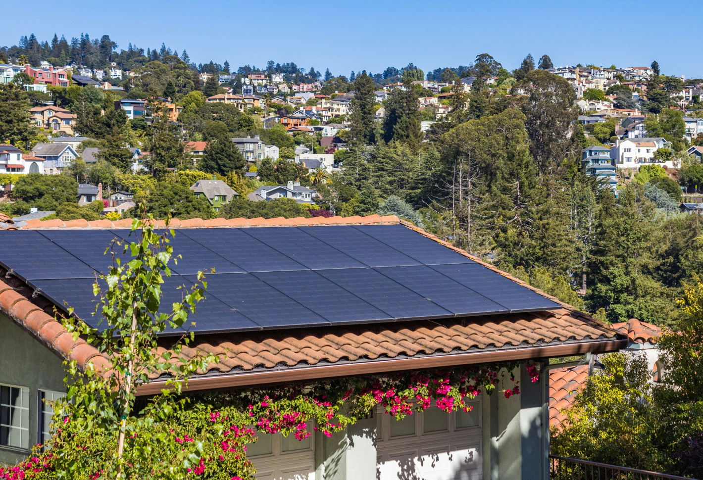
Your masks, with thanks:
<instances>
[{"instance_id":1,"label":"leftmost white-framed grid window in the grey-green stucco wall","mask_svg":"<svg viewBox=\"0 0 703 480\"><path fill-rule=\"evenodd\" d=\"M30 389L0 385L0 445L30 448Z\"/></svg>"}]
</instances>

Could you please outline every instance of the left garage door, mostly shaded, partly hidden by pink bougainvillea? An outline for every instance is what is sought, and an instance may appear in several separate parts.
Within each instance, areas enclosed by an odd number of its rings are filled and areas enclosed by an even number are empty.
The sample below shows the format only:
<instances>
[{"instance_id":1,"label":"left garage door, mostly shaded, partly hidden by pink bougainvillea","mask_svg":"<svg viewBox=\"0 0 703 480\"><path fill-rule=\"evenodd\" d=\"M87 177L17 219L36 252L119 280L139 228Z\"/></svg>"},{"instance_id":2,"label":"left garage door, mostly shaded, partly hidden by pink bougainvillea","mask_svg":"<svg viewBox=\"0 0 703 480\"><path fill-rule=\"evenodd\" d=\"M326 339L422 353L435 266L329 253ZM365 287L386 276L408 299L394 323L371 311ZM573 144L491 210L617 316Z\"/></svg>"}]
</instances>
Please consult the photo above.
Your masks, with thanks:
<instances>
[{"instance_id":1,"label":"left garage door, mostly shaded, partly hidden by pink bougainvillea","mask_svg":"<svg viewBox=\"0 0 703 480\"><path fill-rule=\"evenodd\" d=\"M257 434L259 440L247 445L247 458L257 469L257 480L315 480L313 435L311 432L307 439L297 440L293 434Z\"/></svg>"}]
</instances>

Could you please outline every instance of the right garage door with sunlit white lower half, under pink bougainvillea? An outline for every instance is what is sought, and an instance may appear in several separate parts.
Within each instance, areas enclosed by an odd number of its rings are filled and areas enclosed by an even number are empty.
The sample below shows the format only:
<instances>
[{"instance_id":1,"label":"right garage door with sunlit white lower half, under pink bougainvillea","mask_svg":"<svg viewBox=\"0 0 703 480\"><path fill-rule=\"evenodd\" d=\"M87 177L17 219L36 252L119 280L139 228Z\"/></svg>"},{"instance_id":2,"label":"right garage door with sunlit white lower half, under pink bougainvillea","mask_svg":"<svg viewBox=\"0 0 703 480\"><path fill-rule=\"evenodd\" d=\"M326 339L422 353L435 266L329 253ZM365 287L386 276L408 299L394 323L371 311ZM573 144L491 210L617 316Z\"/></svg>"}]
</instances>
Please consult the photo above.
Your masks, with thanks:
<instances>
[{"instance_id":1,"label":"right garage door with sunlit white lower half, under pink bougainvillea","mask_svg":"<svg viewBox=\"0 0 703 480\"><path fill-rule=\"evenodd\" d=\"M395 420L379 413L378 480L482 480L481 403L470 413L434 406Z\"/></svg>"}]
</instances>

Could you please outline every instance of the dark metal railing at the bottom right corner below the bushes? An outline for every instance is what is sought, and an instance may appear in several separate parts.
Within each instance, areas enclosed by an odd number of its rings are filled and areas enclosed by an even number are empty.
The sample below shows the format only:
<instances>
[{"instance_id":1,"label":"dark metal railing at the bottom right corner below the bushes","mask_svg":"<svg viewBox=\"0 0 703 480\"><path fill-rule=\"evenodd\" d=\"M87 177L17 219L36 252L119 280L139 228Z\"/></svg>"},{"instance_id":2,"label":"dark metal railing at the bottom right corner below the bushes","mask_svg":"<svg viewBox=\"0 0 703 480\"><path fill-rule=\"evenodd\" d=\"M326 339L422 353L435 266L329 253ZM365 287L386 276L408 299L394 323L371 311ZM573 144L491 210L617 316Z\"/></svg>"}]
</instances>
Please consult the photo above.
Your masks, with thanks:
<instances>
[{"instance_id":1,"label":"dark metal railing at the bottom right corner below the bushes","mask_svg":"<svg viewBox=\"0 0 703 480\"><path fill-rule=\"evenodd\" d=\"M685 476L647 472L607 463L588 462L576 458L549 455L549 478L553 480L659 480L686 479Z\"/></svg>"}]
</instances>

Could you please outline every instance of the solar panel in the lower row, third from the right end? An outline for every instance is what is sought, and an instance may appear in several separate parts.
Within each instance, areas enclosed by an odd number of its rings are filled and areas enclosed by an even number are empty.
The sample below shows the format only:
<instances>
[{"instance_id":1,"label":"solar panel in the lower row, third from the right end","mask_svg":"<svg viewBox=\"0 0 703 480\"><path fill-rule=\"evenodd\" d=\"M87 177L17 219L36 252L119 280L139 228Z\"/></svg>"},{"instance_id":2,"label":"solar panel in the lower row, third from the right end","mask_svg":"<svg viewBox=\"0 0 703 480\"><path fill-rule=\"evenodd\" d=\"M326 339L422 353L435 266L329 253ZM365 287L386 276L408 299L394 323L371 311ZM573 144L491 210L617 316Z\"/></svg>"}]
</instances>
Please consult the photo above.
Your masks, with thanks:
<instances>
[{"instance_id":1,"label":"solar panel in the lower row, third from the right end","mask_svg":"<svg viewBox=\"0 0 703 480\"><path fill-rule=\"evenodd\" d=\"M373 268L342 268L317 272L396 319L453 316L453 313L381 275Z\"/></svg>"}]
</instances>

